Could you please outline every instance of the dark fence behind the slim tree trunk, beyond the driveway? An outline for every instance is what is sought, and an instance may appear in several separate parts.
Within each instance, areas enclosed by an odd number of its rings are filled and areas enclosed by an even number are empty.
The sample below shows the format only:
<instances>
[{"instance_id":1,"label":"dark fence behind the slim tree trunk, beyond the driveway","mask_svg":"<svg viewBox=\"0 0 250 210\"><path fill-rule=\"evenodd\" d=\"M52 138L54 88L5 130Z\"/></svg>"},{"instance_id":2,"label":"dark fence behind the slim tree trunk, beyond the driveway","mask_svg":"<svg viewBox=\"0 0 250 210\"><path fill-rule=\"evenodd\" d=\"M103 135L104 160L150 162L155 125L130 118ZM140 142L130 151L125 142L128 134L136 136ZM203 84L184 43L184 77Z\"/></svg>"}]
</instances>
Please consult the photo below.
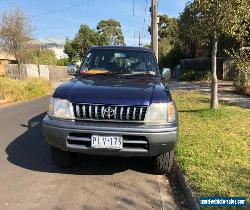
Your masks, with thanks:
<instances>
[{"instance_id":1,"label":"dark fence behind the slim tree trunk, beyond the driveway","mask_svg":"<svg viewBox=\"0 0 250 210\"><path fill-rule=\"evenodd\" d=\"M172 76L178 79L182 72L187 70L204 71L211 70L212 60L210 58L182 59L180 67L172 72ZM217 77L221 80L231 80L233 78L234 66L229 58L217 58Z\"/></svg>"}]
</instances>

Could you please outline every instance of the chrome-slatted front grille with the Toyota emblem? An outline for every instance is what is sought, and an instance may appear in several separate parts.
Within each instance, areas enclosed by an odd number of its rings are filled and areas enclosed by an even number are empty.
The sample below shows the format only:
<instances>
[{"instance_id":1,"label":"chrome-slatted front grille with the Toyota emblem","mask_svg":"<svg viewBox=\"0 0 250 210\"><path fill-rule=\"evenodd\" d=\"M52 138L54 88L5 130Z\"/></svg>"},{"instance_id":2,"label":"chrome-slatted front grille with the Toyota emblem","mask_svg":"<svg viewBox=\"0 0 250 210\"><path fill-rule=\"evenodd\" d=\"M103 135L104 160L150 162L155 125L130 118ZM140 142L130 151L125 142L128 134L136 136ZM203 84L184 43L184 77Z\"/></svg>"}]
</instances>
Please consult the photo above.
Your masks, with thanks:
<instances>
[{"instance_id":1,"label":"chrome-slatted front grille with the Toyota emblem","mask_svg":"<svg viewBox=\"0 0 250 210\"><path fill-rule=\"evenodd\" d=\"M120 106L73 104L75 118L79 120L144 121L146 106Z\"/></svg>"}]
</instances>

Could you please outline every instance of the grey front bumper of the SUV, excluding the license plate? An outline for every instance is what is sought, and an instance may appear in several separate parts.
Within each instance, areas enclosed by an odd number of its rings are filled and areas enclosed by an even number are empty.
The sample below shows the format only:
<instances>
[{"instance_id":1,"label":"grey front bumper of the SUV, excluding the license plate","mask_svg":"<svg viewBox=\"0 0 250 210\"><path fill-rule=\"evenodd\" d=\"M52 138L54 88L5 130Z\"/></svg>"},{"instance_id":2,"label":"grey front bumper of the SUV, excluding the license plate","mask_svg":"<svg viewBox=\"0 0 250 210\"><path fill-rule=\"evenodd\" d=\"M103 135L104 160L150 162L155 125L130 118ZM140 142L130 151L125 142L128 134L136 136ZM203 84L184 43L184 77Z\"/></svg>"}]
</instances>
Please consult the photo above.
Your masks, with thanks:
<instances>
[{"instance_id":1,"label":"grey front bumper of the SUV, excluding the license plate","mask_svg":"<svg viewBox=\"0 0 250 210\"><path fill-rule=\"evenodd\" d=\"M93 155L157 156L174 150L178 126L146 126L125 122L69 121L45 116L43 133L47 142L64 151ZM91 135L123 136L122 150L91 148Z\"/></svg>"}]
</instances>

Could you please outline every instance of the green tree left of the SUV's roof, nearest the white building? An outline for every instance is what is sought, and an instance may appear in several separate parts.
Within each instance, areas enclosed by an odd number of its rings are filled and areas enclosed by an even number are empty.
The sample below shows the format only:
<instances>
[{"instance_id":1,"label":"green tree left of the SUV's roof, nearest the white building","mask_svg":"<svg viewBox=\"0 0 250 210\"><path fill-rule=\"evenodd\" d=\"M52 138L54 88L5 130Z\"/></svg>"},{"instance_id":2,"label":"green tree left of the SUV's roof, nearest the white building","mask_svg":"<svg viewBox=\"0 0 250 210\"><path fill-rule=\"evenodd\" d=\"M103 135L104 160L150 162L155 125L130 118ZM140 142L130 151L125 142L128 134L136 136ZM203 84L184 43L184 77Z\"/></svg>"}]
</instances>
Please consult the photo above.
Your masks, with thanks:
<instances>
[{"instance_id":1,"label":"green tree left of the SUV's roof, nearest the white building","mask_svg":"<svg viewBox=\"0 0 250 210\"><path fill-rule=\"evenodd\" d=\"M70 62L80 61L90 47L99 45L98 33L87 25L80 25L80 29L73 40L66 39L64 52Z\"/></svg>"}]
</instances>

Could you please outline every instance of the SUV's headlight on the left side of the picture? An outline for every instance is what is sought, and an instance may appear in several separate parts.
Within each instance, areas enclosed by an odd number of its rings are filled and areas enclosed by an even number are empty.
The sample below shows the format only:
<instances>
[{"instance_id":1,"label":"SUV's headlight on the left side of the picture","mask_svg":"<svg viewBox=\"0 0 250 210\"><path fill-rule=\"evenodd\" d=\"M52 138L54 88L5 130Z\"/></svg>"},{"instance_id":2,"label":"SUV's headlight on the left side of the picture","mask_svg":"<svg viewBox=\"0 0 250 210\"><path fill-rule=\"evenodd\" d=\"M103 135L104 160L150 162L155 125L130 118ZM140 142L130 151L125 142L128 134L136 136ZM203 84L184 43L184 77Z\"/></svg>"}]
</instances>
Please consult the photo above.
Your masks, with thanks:
<instances>
[{"instance_id":1,"label":"SUV's headlight on the left side of the picture","mask_svg":"<svg viewBox=\"0 0 250 210\"><path fill-rule=\"evenodd\" d=\"M75 119L72 104L65 99L50 98L48 115L60 119Z\"/></svg>"}]
</instances>

